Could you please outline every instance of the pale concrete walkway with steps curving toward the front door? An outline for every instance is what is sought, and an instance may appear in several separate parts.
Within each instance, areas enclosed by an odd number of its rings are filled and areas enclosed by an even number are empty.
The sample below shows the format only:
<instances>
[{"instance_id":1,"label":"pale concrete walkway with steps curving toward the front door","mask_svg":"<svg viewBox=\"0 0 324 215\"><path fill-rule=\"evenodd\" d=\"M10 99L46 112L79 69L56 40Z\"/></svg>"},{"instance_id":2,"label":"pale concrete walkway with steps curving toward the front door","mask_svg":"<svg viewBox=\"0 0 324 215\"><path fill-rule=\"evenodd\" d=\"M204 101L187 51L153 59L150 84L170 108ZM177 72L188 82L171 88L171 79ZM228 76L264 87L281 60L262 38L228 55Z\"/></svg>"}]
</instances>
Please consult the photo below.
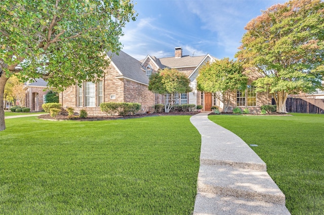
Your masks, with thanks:
<instances>
[{"instance_id":1,"label":"pale concrete walkway with steps curving toward the front door","mask_svg":"<svg viewBox=\"0 0 324 215\"><path fill-rule=\"evenodd\" d=\"M290 214L266 164L241 138L200 113L190 122L201 134L193 214Z\"/></svg>"}]
</instances>

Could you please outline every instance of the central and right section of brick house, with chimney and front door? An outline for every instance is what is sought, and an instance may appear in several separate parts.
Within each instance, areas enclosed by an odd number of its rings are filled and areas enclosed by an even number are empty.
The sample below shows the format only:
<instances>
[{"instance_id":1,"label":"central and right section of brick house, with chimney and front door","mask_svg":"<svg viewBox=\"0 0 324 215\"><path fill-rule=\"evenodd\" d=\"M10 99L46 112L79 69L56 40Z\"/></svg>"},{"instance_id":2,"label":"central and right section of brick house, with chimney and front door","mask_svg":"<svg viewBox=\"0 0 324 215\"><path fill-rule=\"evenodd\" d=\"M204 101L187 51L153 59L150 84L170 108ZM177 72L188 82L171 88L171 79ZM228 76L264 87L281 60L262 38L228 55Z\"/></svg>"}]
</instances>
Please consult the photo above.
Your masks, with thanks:
<instances>
[{"instance_id":1,"label":"central and right section of brick house, with chimney and front door","mask_svg":"<svg viewBox=\"0 0 324 215\"><path fill-rule=\"evenodd\" d=\"M219 101L210 92L197 91L196 77L198 76L201 66L208 62L217 60L211 55L206 56L183 56L182 48L175 48L175 56L169 58L156 58L154 56L147 56L142 60L142 67L145 68L146 75L149 77L152 73L157 72L159 69L175 68L187 75L190 79L190 87L192 91L189 93L181 93L179 100L176 104L201 104L203 111L211 111L213 105L219 106L223 110L223 103ZM241 109L248 108L252 113L260 112L260 106L264 104L271 104L271 96L268 93L257 93L255 87L251 85L255 79L250 75L248 88L246 90L237 90L231 96L229 111L233 110L236 106ZM155 103L164 103L164 97L155 95Z\"/></svg>"}]
</instances>

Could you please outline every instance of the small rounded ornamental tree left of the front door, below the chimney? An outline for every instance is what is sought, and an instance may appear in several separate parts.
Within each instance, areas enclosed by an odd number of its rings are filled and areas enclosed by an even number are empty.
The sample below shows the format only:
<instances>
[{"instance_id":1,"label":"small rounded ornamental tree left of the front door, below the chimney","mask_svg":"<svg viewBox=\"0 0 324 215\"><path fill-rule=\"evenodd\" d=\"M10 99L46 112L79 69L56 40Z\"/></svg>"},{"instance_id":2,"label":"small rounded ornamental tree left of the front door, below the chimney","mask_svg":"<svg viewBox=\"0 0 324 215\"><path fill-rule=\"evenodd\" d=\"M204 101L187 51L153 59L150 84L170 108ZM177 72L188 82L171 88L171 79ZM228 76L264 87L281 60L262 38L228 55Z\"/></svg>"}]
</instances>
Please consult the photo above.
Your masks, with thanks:
<instances>
[{"instance_id":1,"label":"small rounded ornamental tree left of the front door, below the chimney","mask_svg":"<svg viewBox=\"0 0 324 215\"><path fill-rule=\"evenodd\" d=\"M169 113L180 93L191 91L190 80L184 73L176 69L159 70L150 76L148 89L154 93L164 95L165 112ZM179 96L175 96L179 93Z\"/></svg>"}]
</instances>

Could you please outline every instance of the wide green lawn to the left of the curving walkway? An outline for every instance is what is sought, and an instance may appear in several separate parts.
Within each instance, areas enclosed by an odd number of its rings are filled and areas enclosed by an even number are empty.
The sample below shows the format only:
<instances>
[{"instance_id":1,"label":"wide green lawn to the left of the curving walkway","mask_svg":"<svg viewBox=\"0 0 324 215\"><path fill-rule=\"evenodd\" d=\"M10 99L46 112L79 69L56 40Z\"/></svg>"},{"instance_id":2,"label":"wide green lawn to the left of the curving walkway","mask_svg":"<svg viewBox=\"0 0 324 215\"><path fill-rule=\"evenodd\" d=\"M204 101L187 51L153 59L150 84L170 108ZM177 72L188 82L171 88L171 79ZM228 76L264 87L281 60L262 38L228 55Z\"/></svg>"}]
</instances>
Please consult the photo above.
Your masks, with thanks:
<instances>
[{"instance_id":1,"label":"wide green lawn to the left of the curving walkway","mask_svg":"<svg viewBox=\"0 0 324 215\"><path fill-rule=\"evenodd\" d=\"M200 135L189 118L6 120L0 214L190 214Z\"/></svg>"}]
</instances>

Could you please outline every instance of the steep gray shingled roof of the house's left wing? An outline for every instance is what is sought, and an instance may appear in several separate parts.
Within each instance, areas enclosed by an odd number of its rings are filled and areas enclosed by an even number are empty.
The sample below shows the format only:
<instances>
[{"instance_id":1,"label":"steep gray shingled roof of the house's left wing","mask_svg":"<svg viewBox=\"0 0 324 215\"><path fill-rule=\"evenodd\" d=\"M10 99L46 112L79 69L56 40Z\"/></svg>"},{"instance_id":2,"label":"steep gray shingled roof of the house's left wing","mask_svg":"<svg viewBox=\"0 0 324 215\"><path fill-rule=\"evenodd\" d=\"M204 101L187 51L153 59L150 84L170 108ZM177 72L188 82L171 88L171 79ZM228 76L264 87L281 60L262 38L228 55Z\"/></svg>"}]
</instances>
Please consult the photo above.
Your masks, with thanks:
<instances>
[{"instance_id":1,"label":"steep gray shingled roof of the house's left wing","mask_svg":"<svg viewBox=\"0 0 324 215\"><path fill-rule=\"evenodd\" d=\"M127 55L124 51L119 51L118 55L116 53L108 52L107 56L124 77L148 84L149 79L145 75L145 70L142 70L143 67L141 66L141 62Z\"/></svg>"}]
</instances>

